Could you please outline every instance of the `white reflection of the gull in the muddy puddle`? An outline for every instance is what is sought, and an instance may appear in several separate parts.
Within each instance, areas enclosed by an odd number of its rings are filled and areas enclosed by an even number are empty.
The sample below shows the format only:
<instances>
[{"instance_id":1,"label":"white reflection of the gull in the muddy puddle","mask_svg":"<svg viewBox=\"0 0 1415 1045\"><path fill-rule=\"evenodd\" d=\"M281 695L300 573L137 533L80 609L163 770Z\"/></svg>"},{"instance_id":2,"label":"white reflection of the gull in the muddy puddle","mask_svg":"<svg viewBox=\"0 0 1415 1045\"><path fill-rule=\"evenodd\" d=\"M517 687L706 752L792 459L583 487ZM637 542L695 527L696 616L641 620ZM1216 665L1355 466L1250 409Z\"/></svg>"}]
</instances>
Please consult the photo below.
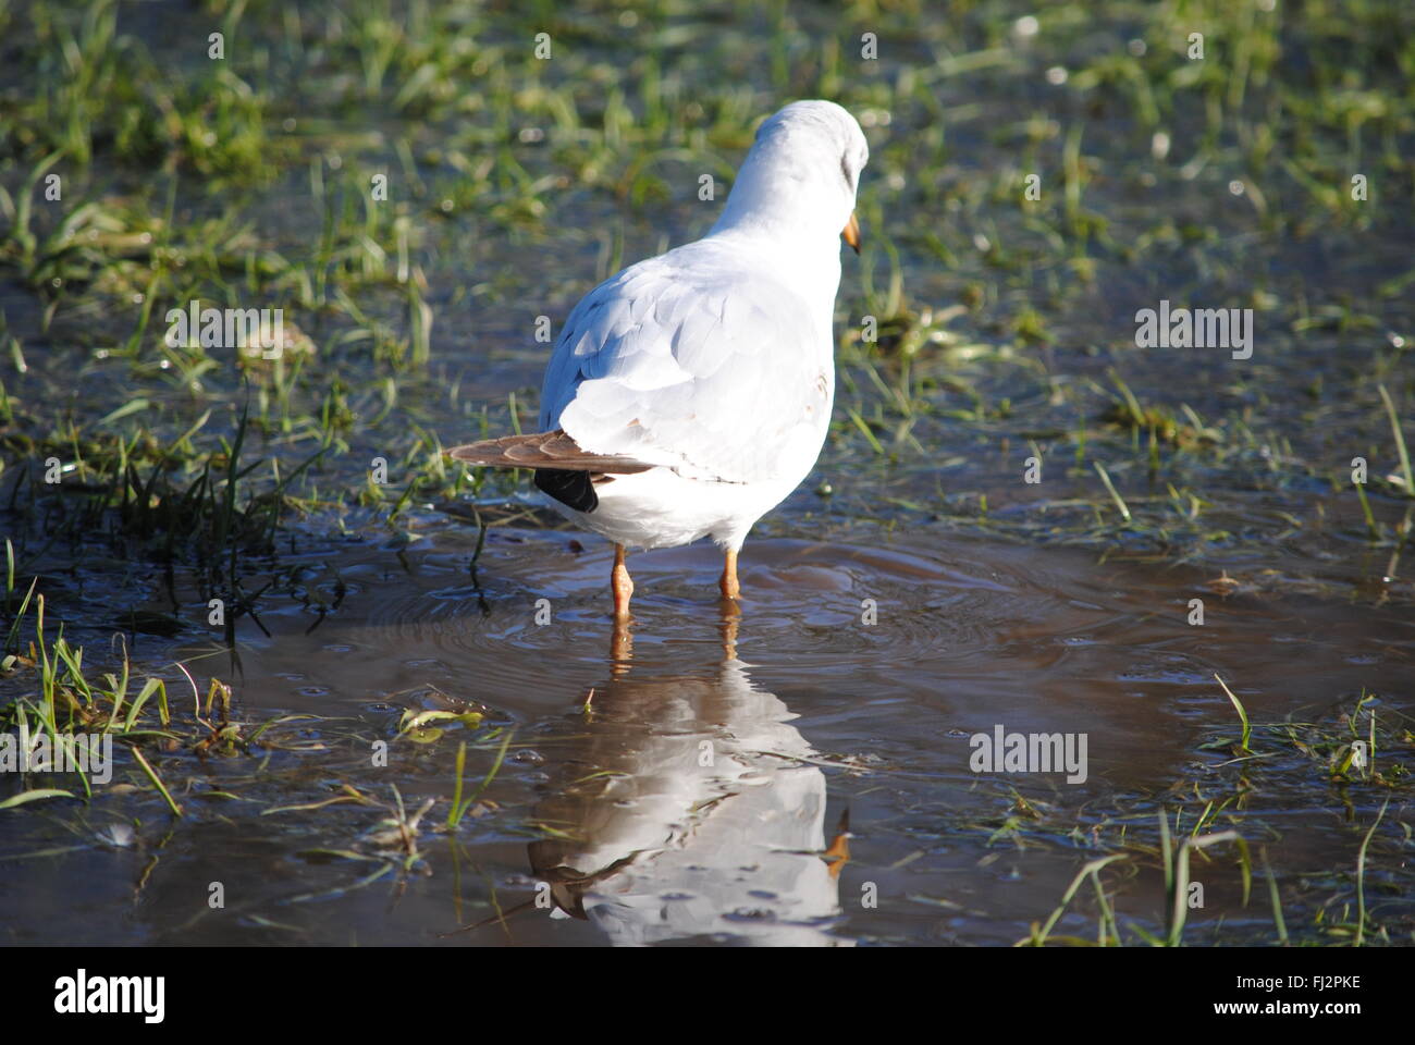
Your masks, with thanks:
<instances>
[{"instance_id":1,"label":"white reflection of the gull in the muddy puddle","mask_svg":"<svg viewBox=\"0 0 1415 1045\"><path fill-rule=\"evenodd\" d=\"M845 823L825 845L825 775L795 715L753 685L724 607L723 658L702 677L638 677L628 624L586 702L529 847L552 918L614 944L722 940L842 946ZM642 668L641 668L642 670ZM546 895L548 889L548 895Z\"/></svg>"}]
</instances>

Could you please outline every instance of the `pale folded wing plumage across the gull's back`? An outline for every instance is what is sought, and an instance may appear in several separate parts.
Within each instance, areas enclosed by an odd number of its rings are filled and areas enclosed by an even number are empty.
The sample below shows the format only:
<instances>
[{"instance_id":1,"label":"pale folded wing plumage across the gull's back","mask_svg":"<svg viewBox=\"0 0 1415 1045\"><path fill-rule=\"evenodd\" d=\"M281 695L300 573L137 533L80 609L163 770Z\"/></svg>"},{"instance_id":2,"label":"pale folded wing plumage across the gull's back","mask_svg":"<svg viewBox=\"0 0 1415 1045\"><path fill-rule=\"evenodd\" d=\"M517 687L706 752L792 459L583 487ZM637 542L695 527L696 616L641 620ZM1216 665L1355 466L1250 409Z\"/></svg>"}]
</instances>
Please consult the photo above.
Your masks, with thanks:
<instances>
[{"instance_id":1,"label":"pale folded wing plumage across the gull's back","mask_svg":"<svg viewBox=\"0 0 1415 1045\"><path fill-rule=\"evenodd\" d=\"M692 479L775 479L787 450L819 447L822 351L828 326L809 303L710 241L692 244L576 306L546 370L541 428Z\"/></svg>"}]
</instances>

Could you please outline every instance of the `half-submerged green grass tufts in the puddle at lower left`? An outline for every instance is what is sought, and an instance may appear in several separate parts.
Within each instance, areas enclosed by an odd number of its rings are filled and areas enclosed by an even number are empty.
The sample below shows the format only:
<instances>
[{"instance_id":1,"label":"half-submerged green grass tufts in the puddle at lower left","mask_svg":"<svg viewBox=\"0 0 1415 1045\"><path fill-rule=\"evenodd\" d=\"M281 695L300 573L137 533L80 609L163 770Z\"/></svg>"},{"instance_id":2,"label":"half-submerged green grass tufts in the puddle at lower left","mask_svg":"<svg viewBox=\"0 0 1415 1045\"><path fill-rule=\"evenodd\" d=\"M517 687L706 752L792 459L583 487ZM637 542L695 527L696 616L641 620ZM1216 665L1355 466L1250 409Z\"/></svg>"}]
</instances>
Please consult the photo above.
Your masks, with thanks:
<instances>
[{"instance_id":1,"label":"half-submerged green grass tufts in the puddle at lower left","mask_svg":"<svg viewBox=\"0 0 1415 1045\"><path fill-rule=\"evenodd\" d=\"M30 592L34 593L34 585ZM307 854L381 861L382 869L354 885L318 893L320 896L342 895L392 871L406 874L420 865L419 824L443 800L441 796L426 797L416 811L409 813L396 784L392 787L393 803L388 804L345 783L333 799L290 804L289 796L307 786L306 775L297 762L282 772L272 772L272 760L280 756L297 760L300 755L328 752L333 746L355 752L372 746L376 750L374 741L362 733L355 721L341 724L314 715L276 715L259 724L246 721L233 708L229 685L212 678L202 699L195 678L181 663L168 668L190 684L192 699L190 708L180 704L174 707L168 698L170 680L147 675L139 683L126 646L115 666L116 671L98 673L85 664L85 650L71 644L62 634L62 627L59 634L51 637L42 593L34 595L33 609L27 598L16 610L11 633L20 627L30 627L33 637L23 651L8 653L0 661L0 738L6 741L0 746L0 769L6 770L0 779L7 784L0 790L0 811L4 816L18 816L21 809L52 807L64 800L105 810L105 816L112 816L122 807L126 813L119 816L120 827L115 828L117 834L100 833L99 843L115 844L113 840L117 838L119 847L127 847L136 837L134 828L143 830L154 821L160 809L166 809L174 821L191 820L194 800L253 801L265 806L262 814L266 816L355 803L389 814L362 837L361 844L366 851L310 850ZM427 718L430 714L409 711L403 719L409 715ZM481 714L449 716L458 718L468 729L477 729L483 719ZM311 724L321 726L325 739L308 739ZM400 741L405 746L415 746L408 738L408 729L402 726L392 735L391 743ZM467 743L460 745L456 790L449 800L451 811L441 830L457 830L468 809L495 779L511 741L511 731L499 726L477 738L478 749L494 749L495 755L481 784L467 799L461 794ZM430 742L430 738L423 738L422 742ZM110 746L100 749L99 745ZM105 750L109 753L103 755ZM366 758L365 755L364 760ZM231 776L229 770L216 770L216 763L232 760L250 763L252 772L238 777L249 786L249 794L232 790L229 779L216 783L218 775ZM209 783L207 790L195 792L194 777L200 776L208 777ZM181 794L187 797L181 801L174 792L174 779L185 780ZM270 801L270 796L279 796L284 801ZM52 811L50 816L55 817ZM62 823L64 814L57 816ZM207 821L209 817L197 813L195 818ZM79 838L92 841L93 831L86 827L82 811L69 830ZM340 828L331 824L328 830ZM7 858L24 855L13 851L6 854ZM296 896L290 902L313 898L314 895Z\"/></svg>"}]
</instances>

